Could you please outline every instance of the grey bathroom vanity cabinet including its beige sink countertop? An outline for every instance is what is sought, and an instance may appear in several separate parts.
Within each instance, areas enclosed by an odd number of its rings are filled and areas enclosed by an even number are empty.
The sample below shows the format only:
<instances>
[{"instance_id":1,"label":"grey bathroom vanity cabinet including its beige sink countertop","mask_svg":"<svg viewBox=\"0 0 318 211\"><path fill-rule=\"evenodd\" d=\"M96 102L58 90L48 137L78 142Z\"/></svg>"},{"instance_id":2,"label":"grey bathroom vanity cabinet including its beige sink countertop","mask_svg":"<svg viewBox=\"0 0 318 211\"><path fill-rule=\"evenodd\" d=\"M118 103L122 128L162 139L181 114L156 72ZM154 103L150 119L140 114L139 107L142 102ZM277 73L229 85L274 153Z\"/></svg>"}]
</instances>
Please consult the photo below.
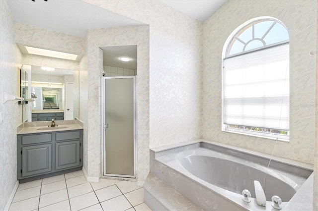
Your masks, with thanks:
<instances>
[{"instance_id":1,"label":"grey bathroom vanity cabinet including its beige sink countertop","mask_svg":"<svg viewBox=\"0 0 318 211\"><path fill-rule=\"evenodd\" d=\"M18 132L17 179L20 183L81 169L82 127L61 125L59 121L56 124L59 126L25 127Z\"/></svg>"}]
</instances>

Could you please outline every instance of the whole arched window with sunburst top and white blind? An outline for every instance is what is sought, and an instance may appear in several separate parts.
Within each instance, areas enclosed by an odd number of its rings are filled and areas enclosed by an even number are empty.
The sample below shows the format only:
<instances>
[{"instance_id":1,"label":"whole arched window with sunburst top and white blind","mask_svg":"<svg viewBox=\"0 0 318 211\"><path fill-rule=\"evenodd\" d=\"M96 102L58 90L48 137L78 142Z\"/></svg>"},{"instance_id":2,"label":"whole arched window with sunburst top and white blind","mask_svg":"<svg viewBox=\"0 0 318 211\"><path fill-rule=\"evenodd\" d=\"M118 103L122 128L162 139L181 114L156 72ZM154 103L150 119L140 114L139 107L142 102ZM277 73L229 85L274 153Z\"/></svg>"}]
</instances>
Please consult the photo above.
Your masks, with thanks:
<instances>
[{"instance_id":1,"label":"whole arched window with sunburst top and white blind","mask_svg":"<svg viewBox=\"0 0 318 211\"><path fill-rule=\"evenodd\" d=\"M289 139L289 34L282 22L245 22L223 49L225 131Z\"/></svg>"}]
</instances>

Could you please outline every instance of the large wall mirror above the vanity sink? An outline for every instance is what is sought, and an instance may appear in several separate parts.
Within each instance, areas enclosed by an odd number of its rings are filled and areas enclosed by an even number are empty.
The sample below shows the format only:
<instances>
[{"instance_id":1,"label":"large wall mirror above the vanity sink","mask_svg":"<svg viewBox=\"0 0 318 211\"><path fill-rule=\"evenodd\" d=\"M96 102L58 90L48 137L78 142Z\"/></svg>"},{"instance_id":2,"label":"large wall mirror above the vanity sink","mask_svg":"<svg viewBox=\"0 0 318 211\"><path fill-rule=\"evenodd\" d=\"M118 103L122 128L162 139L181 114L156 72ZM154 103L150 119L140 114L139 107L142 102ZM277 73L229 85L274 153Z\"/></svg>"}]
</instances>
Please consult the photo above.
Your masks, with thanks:
<instances>
[{"instance_id":1,"label":"large wall mirror above the vanity sink","mask_svg":"<svg viewBox=\"0 0 318 211\"><path fill-rule=\"evenodd\" d=\"M78 70L31 65L30 78L28 121L79 119Z\"/></svg>"}]
</instances>

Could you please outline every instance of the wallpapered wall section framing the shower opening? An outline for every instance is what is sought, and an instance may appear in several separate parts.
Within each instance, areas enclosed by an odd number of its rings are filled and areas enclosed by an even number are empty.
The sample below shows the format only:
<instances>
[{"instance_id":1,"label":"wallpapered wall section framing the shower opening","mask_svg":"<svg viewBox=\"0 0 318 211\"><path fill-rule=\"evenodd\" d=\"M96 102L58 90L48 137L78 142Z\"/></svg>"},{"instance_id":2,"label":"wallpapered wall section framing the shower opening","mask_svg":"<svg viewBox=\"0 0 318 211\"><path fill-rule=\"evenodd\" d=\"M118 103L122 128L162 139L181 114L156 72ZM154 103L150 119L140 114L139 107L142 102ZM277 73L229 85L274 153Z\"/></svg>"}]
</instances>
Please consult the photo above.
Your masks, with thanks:
<instances>
[{"instance_id":1,"label":"wallpapered wall section framing the shower opening","mask_svg":"<svg viewBox=\"0 0 318 211\"><path fill-rule=\"evenodd\" d=\"M87 130L84 163L88 176L99 177L101 165L101 108L102 108L102 54L99 47L137 45L137 179L144 181L149 172L149 26L120 27L88 30L87 33L87 81L80 71L80 80L88 87L86 113ZM83 69L85 68L85 65ZM80 100L86 99L81 93ZM82 104L80 104L82 105ZM80 106L81 109L81 106ZM85 139L84 139L85 146ZM86 154L86 155L85 155ZM85 160L85 159L84 159Z\"/></svg>"}]
</instances>

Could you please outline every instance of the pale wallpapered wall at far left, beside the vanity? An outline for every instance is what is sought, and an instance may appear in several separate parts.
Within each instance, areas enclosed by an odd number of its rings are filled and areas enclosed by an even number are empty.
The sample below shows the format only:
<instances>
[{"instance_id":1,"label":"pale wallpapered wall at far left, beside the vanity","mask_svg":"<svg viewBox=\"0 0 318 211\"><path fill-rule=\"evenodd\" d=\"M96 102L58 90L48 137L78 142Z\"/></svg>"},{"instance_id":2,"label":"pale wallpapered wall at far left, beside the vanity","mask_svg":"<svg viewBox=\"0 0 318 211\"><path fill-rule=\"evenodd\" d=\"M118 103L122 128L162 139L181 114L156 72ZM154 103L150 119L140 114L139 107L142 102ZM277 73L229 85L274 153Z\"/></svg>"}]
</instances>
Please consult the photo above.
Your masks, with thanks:
<instances>
[{"instance_id":1,"label":"pale wallpapered wall at far left, beside the vanity","mask_svg":"<svg viewBox=\"0 0 318 211\"><path fill-rule=\"evenodd\" d=\"M21 53L14 42L14 22L5 0L0 0L0 92L19 95L18 74ZM0 210L17 182L16 179L16 126L22 122L22 106L15 101L0 103L4 122L0 124Z\"/></svg>"}]
</instances>

